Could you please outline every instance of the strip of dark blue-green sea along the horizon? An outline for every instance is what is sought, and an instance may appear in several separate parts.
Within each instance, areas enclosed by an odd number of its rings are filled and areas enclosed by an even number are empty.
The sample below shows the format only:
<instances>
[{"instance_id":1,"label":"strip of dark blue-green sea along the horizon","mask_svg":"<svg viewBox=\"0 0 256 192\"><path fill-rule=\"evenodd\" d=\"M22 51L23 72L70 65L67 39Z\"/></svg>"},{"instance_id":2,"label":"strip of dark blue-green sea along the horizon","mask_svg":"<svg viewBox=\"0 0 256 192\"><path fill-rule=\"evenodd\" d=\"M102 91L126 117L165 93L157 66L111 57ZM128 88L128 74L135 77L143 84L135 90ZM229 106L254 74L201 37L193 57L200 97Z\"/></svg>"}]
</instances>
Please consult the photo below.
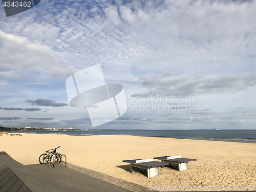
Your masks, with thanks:
<instances>
[{"instance_id":1,"label":"strip of dark blue-green sea along the horizon","mask_svg":"<svg viewBox=\"0 0 256 192\"><path fill-rule=\"evenodd\" d=\"M15 132L18 133L18 132ZM99 131L27 131L19 133L52 134L62 133L74 136L90 135L133 135L142 137L165 137L256 143L256 130L99 130Z\"/></svg>"}]
</instances>

